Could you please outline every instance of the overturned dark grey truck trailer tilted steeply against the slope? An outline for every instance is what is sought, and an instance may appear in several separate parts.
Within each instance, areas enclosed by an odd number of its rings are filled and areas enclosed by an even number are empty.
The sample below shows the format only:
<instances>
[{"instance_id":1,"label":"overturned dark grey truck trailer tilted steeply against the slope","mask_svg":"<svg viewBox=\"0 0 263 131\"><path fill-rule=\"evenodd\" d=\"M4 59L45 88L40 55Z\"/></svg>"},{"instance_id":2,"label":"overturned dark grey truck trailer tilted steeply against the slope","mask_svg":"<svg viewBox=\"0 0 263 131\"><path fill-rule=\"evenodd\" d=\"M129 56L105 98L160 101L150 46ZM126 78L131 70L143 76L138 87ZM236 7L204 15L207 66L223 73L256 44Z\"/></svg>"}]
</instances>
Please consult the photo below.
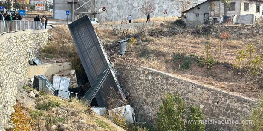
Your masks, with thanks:
<instances>
[{"instance_id":1,"label":"overturned dark grey truck trailer tilted steeply against the slope","mask_svg":"<svg viewBox=\"0 0 263 131\"><path fill-rule=\"evenodd\" d=\"M107 106L105 96L111 94L111 88L120 94L121 100L126 102L123 90L117 80L108 54L97 36L88 15L79 18L68 25L79 57L87 74L91 88L83 96L89 102L96 98L99 106Z\"/></svg>"}]
</instances>

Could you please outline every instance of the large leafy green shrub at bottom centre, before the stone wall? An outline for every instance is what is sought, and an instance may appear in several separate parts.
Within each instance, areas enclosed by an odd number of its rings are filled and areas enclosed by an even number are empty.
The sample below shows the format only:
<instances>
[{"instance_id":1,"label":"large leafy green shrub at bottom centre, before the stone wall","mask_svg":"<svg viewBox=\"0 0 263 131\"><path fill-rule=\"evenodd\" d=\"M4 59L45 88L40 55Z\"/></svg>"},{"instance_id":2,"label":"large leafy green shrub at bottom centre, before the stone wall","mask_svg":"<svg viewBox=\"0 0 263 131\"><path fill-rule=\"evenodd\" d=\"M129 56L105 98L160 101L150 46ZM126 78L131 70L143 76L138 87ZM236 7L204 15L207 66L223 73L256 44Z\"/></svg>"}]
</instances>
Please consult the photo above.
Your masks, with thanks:
<instances>
[{"instance_id":1,"label":"large leafy green shrub at bottom centre, before the stone wall","mask_svg":"<svg viewBox=\"0 0 263 131\"><path fill-rule=\"evenodd\" d=\"M190 105L185 108L185 103L178 94L168 93L162 101L155 123L157 131L204 131L205 125L199 124L199 120L204 120L200 107ZM186 120L197 120L197 123L185 124Z\"/></svg>"}]
</instances>

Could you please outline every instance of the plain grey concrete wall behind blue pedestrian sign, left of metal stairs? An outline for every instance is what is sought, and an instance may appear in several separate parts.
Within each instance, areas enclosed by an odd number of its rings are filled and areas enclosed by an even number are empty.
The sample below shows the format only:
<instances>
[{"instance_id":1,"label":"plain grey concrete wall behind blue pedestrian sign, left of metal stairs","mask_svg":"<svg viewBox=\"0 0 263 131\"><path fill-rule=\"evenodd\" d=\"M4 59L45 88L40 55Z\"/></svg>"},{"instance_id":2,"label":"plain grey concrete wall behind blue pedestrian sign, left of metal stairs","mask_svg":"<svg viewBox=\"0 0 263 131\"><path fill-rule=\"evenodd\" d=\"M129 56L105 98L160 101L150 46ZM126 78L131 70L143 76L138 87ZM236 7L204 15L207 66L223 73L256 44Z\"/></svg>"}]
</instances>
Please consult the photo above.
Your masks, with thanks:
<instances>
[{"instance_id":1,"label":"plain grey concrete wall behind blue pedestrian sign, left of metal stairs","mask_svg":"<svg viewBox=\"0 0 263 131\"><path fill-rule=\"evenodd\" d=\"M53 17L59 20L67 20L66 11L70 11L68 20L71 21L71 4L67 4L68 0L53 0Z\"/></svg>"}]
</instances>

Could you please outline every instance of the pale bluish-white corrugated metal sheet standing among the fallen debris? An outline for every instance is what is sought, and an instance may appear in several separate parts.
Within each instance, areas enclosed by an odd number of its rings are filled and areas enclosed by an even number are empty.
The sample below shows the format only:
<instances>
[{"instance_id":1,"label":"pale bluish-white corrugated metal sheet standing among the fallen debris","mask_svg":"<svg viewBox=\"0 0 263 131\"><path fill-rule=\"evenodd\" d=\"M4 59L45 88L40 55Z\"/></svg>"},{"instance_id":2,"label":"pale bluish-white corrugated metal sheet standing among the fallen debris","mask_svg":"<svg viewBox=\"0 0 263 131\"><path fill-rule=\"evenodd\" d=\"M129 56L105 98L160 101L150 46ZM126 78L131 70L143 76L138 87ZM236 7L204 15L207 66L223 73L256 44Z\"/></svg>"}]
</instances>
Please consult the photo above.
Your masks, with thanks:
<instances>
[{"instance_id":1,"label":"pale bluish-white corrugated metal sheet standing among the fallen debris","mask_svg":"<svg viewBox=\"0 0 263 131\"><path fill-rule=\"evenodd\" d=\"M53 86L56 89L68 91L69 82L70 79L66 77L59 77L59 76L53 77Z\"/></svg>"}]
</instances>

